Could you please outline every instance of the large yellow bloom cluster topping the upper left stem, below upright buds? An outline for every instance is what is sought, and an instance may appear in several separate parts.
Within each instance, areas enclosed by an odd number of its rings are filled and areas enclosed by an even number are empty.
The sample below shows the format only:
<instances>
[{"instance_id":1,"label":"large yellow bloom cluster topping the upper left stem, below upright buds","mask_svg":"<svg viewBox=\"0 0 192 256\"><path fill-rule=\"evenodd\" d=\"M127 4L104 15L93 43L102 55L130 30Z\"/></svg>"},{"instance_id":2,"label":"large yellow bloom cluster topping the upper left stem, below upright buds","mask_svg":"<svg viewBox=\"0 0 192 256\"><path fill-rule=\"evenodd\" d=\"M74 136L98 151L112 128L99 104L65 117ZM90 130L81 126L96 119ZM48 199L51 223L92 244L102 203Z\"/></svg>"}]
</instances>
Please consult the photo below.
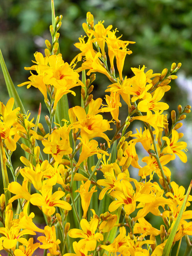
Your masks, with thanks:
<instances>
[{"instance_id":1,"label":"large yellow bloom cluster topping the upper left stem, below upright buds","mask_svg":"<svg viewBox=\"0 0 192 256\"><path fill-rule=\"evenodd\" d=\"M38 88L45 98L47 99L47 85L54 87L54 105L57 106L58 101L64 94L71 92L73 95L75 93L70 90L71 88L81 85L83 83L79 80L79 75L74 71L67 62L64 62L62 55L50 55L48 57L43 57L39 52L34 54L36 65L33 65L27 70L35 70L37 75L32 75L29 77L30 81L19 84L18 86L27 85L29 88L31 85Z\"/></svg>"}]
</instances>

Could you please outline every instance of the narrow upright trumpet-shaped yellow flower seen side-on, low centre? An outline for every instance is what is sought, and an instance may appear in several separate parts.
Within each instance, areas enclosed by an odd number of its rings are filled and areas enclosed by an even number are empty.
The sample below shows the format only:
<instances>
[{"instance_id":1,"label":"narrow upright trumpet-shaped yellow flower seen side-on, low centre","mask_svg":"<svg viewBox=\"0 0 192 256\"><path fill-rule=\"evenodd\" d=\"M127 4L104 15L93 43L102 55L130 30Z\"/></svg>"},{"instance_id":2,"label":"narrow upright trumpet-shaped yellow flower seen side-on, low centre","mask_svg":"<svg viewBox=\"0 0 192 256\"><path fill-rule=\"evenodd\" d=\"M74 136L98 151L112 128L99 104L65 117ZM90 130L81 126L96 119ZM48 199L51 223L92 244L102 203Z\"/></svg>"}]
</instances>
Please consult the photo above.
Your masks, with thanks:
<instances>
[{"instance_id":1,"label":"narrow upright trumpet-shaped yellow flower seen side-on, low centre","mask_svg":"<svg viewBox=\"0 0 192 256\"><path fill-rule=\"evenodd\" d=\"M90 201L91 201L91 197L92 197L92 194L94 192L97 192L97 190L95 190L95 187L96 186L93 186L91 188L91 190L89 191L89 187L91 185L91 181L90 180L87 180L84 184L83 181L82 182L82 185L80 185L80 189L78 190L75 190L75 192L79 192L80 193L80 197L81 197L81 206L83 208L83 217L82 218L86 218L86 215L87 215L87 211L88 211L88 208L89 208L89 205L90 205Z\"/></svg>"}]
</instances>

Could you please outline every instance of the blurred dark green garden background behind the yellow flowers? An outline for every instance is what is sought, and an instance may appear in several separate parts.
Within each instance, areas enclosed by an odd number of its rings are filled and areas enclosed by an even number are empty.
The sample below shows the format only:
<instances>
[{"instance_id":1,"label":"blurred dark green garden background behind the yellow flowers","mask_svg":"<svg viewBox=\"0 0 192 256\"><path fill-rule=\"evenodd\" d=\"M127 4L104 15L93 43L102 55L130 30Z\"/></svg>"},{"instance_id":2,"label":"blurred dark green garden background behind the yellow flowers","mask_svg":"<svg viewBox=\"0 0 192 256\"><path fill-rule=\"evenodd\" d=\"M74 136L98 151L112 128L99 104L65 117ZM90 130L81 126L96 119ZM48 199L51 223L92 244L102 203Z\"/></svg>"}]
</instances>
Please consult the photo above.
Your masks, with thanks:
<instances>
[{"instance_id":1,"label":"blurred dark green garden background behind the yellow flowers","mask_svg":"<svg viewBox=\"0 0 192 256\"><path fill-rule=\"evenodd\" d=\"M164 68L170 69L172 62L182 63L177 73L178 82L172 81L171 90L166 93L164 101L170 108L177 110L177 105L191 105L192 101L192 0L54 0L56 16L63 15L60 32L60 50L63 59L70 62L78 53L74 43L84 35L82 23L86 22L86 13L90 11L95 24L105 20L105 26L113 25L122 34L122 40L135 41L130 45L132 54L126 57L124 75L132 76L131 67L145 65L154 73L161 73ZM44 52L45 39L51 39L50 0L1 0L0 1L0 48L14 84L27 80L29 72L24 67L32 65L34 52ZM103 97L110 84L106 77L98 74L93 94ZM25 109L36 117L39 101L42 102L42 117L46 108L41 93L17 87L24 101ZM0 101L6 104L8 93L4 78L0 72ZM79 88L75 91L78 92ZM80 96L70 104L80 104ZM125 106L123 106L125 107ZM122 116L122 118L124 118ZM42 121L43 122L43 121ZM171 123L171 122L170 122ZM188 143L188 162L183 164L179 159L171 162L172 180L188 187L192 178L192 118L189 114L183 122L184 140ZM134 133L134 131L133 131ZM177 158L177 157L176 157ZM15 168L19 163L14 157Z\"/></svg>"}]
</instances>

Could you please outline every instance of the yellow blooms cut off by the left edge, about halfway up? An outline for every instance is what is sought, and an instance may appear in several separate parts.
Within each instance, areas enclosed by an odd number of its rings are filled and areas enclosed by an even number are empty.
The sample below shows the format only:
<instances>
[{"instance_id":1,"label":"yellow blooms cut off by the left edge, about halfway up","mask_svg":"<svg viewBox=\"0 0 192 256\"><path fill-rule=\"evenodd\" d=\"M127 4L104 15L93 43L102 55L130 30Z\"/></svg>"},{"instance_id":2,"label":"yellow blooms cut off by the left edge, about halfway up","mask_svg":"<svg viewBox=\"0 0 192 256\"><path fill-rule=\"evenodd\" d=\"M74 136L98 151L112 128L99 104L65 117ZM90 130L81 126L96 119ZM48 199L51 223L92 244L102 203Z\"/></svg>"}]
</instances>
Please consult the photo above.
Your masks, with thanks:
<instances>
[{"instance_id":1,"label":"yellow blooms cut off by the left edge, about halfway up","mask_svg":"<svg viewBox=\"0 0 192 256\"><path fill-rule=\"evenodd\" d=\"M16 113L20 110L20 108L16 108L13 110L14 98L10 98L6 104L6 106L0 102L0 135L4 140L6 147L11 150L16 150L16 142L20 138L17 135L17 130L12 127L15 125L16 121ZM14 138L12 136L14 135Z\"/></svg>"}]
</instances>

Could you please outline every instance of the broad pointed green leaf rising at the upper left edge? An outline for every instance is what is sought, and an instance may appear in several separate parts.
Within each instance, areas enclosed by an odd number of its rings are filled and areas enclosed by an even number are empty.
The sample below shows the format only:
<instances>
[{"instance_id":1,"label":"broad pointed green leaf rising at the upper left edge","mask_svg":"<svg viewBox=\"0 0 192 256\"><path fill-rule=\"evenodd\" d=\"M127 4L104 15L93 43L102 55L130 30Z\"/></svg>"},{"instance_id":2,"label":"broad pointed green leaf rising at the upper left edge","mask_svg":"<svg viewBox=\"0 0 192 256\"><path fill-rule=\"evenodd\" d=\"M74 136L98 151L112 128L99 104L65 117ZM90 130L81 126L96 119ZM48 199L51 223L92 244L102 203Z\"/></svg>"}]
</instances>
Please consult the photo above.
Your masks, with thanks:
<instances>
[{"instance_id":1,"label":"broad pointed green leaf rising at the upper left edge","mask_svg":"<svg viewBox=\"0 0 192 256\"><path fill-rule=\"evenodd\" d=\"M13 81L12 81L12 79L10 77L10 74L8 72L8 69L6 67L1 49L0 49L0 64L1 64L2 71L3 71L3 76L4 76L4 79L5 79L5 83L6 83L6 86L7 86L8 93L9 93L9 97L10 98L13 97L15 99L14 107L15 108L20 107L20 112L26 115L26 111L24 109L23 103L22 103L22 101L19 97L19 94L18 94L18 92L17 92L17 90L16 90L16 88L13 84Z\"/></svg>"}]
</instances>

